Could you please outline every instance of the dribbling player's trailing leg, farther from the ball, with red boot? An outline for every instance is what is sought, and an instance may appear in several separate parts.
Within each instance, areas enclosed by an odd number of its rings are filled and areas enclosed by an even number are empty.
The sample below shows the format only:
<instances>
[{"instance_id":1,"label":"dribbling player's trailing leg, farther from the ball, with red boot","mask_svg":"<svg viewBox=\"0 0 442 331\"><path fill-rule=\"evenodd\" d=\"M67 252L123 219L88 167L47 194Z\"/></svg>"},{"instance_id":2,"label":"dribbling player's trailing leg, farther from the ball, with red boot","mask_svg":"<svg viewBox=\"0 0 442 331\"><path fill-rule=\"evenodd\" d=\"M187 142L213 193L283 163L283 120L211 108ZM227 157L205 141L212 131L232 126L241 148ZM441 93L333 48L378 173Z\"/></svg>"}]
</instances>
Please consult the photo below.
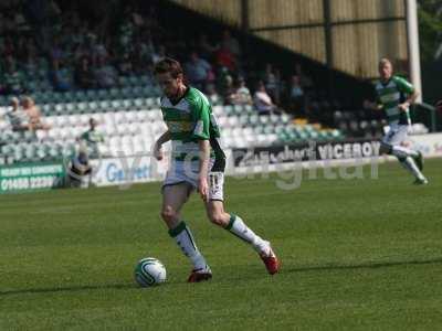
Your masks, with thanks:
<instances>
[{"instance_id":1,"label":"dribbling player's trailing leg, farther from the ball, with red boot","mask_svg":"<svg viewBox=\"0 0 442 331\"><path fill-rule=\"evenodd\" d=\"M229 214L224 211L223 183L223 172L211 172L209 174L209 201L206 203L209 220L252 245L263 259L267 271L272 275L276 274L280 263L271 244L256 235L240 216Z\"/></svg>"}]
</instances>

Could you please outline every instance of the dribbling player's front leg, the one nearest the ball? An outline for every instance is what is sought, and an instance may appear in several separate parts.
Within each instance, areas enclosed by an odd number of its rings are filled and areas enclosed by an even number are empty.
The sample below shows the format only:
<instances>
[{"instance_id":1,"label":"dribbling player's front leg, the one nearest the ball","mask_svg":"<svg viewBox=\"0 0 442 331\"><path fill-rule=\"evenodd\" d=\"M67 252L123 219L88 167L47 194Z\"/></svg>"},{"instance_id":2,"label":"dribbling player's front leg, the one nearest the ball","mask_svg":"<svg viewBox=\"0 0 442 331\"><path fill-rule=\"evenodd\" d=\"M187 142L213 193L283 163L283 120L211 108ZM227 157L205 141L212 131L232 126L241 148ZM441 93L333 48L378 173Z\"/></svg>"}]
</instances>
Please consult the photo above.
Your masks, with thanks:
<instances>
[{"instance_id":1,"label":"dribbling player's front leg, the one nearest the ball","mask_svg":"<svg viewBox=\"0 0 442 331\"><path fill-rule=\"evenodd\" d=\"M189 257L193 265L189 281L199 281L211 278L212 274L204 257L197 247L189 226L182 221L180 215L181 207L187 202L190 190L190 184L186 182L172 185L166 184L162 188L161 218L169 228L169 235L176 241L182 253ZM192 276L196 271L199 275Z\"/></svg>"}]
</instances>

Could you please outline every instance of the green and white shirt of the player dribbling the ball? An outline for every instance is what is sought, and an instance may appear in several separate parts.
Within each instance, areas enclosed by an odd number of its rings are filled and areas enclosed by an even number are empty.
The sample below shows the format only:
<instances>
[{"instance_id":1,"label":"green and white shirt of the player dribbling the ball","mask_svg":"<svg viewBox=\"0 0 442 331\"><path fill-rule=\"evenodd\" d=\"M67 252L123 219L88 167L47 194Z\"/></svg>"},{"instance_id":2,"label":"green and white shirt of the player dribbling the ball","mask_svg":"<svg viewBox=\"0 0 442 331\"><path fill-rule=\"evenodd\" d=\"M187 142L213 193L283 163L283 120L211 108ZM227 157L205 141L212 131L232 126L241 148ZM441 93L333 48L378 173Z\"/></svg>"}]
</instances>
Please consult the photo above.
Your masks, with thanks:
<instances>
[{"instance_id":1,"label":"green and white shirt of the player dribbling the ball","mask_svg":"<svg viewBox=\"0 0 442 331\"><path fill-rule=\"evenodd\" d=\"M220 129L208 98L197 88L188 87L183 97L173 104L161 98L161 111L169 129L175 161L199 159L199 140L209 140L211 158L224 160L220 147Z\"/></svg>"}]
</instances>

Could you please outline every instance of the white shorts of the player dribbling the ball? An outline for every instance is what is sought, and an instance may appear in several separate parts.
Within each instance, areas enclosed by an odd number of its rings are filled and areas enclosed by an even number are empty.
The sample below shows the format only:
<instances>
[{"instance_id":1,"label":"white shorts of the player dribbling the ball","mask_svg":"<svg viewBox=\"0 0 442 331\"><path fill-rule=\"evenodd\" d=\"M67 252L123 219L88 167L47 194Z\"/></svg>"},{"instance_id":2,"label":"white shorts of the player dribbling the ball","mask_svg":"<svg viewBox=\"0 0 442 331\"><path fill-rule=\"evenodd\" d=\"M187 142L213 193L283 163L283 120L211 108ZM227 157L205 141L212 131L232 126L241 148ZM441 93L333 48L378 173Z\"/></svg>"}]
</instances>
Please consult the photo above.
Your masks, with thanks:
<instances>
[{"instance_id":1,"label":"white shorts of the player dribbling the ball","mask_svg":"<svg viewBox=\"0 0 442 331\"><path fill-rule=\"evenodd\" d=\"M213 166L213 160L209 162L209 169ZM167 171L162 188L179 183L190 184L192 190L198 190L199 162L175 161ZM224 172L209 171L209 200L224 200Z\"/></svg>"}]
</instances>

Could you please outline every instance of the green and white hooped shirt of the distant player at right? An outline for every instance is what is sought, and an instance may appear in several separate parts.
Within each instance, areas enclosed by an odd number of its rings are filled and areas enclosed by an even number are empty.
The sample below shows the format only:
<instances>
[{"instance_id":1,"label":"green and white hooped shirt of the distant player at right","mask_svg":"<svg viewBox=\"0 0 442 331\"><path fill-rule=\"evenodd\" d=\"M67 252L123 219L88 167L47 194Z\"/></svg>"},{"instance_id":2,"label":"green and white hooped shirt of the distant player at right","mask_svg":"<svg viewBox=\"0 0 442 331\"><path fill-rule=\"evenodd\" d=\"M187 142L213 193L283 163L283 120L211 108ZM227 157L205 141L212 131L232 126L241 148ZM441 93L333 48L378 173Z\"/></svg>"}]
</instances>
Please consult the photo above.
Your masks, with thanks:
<instances>
[{"instance_id":1,"label":"green and white hooped shirt of the distant player at right","mask_svg":"<svg viewBox=\"0 0 442 331\"><path fill-rule=\"evenodd\" d=\"M414 92L413 85L401 77L392 76L387 83L378 82L375 87L378 103L386 110L388 122L410 125L410 111L402 111L398 106L407 99L407 95Z\"/></svg>"}]
</instances>

